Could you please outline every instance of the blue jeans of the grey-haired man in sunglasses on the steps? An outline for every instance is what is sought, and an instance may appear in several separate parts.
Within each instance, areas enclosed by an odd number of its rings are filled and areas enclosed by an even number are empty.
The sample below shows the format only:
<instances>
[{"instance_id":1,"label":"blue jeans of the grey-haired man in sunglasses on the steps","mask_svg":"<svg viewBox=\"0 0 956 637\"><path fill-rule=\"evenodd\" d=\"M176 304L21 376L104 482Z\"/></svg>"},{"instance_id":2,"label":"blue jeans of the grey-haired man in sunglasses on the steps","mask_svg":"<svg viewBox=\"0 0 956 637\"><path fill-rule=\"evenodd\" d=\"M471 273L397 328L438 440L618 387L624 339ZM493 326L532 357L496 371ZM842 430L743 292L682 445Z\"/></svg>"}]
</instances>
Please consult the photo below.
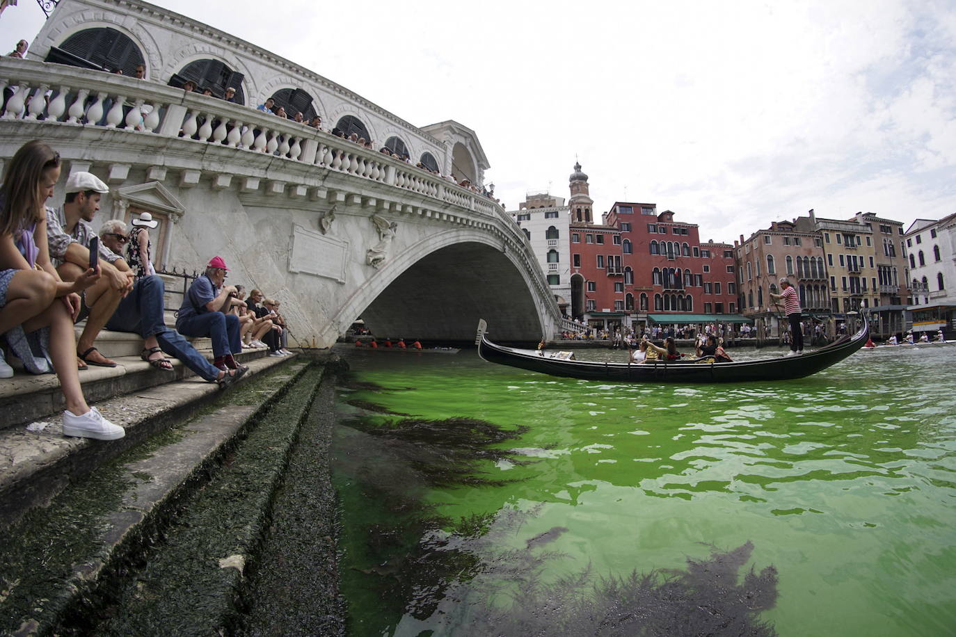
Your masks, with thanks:
<instances>
[{"instance_id":1,"label":"blue jeans of the grey-haired man in sunglasses on the steps","mask_svg":"<svg viewBox=\"0 0 956 637\"><path fill-rule=\"evenodd\" d=\"M163 279L158 276L141 278L133 291L120 301L106 329L130 331L143 338L156 336L164 352L183 361L183 364L206 380L219 377L219 370L196 351L175 329L163 323Z\"/></svg>"}]
</instances>

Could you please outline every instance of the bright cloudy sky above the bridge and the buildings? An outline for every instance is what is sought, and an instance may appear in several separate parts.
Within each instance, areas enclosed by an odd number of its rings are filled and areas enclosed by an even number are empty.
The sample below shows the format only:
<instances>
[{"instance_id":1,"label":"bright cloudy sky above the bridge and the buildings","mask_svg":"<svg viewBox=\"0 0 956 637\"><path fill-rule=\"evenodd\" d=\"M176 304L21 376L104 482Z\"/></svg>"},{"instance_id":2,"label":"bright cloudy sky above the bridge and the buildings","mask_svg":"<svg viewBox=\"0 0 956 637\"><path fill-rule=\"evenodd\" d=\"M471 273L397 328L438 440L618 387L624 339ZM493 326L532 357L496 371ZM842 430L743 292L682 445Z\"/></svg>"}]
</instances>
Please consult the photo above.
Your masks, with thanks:
<instances>
[{"instance_id":1,"label":"bright cloudy sky above the bridge and the buildings","mask_svg":"<svg viewBox=\"0 0 956 637\"><path fill-rule=\"evenodd\" d=\"M155 4L413 124L461 121L509 208L567 197L578 159L597 210L654 202L704 241L810 208L907 224L956 212L952 0ZM20 0L0 43L42 19Z\"/></svg>"}]
</instances>

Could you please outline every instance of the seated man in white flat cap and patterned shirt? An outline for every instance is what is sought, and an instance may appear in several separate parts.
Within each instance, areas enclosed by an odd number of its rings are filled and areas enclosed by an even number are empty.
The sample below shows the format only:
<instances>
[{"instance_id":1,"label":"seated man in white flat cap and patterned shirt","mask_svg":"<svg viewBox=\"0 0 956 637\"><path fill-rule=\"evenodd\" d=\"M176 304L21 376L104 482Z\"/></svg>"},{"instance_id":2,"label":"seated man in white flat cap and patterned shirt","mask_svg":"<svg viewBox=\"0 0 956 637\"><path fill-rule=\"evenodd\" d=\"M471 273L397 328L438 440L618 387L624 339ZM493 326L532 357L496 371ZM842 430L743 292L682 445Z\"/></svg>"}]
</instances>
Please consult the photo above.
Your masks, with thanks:
<instances>
[{"instance_id":1,"label":"seated man in white flat cap and patterned shirt","mask_svg":"<svg viewBox=\"0 0 956 637\"><path fill-rule=\"evenodd\" d=\"M89 267L90 240L97 236L89 223L99 210L100 198L109 191L109 186L96 175L77 172L70 175L66 182L63 205L55 210L47 208L50 259L63 281L76 281ZM133 289L133 272L120 260L120 256L103 244L99 244L98 253L103 276L86 290L85 302L90 313L86 327L76 341L77 365L81 370L85 370L87 365L117 366L116 361L103 356L93 342L120 305L120 299Z\"/></svg>"}]
</instances>

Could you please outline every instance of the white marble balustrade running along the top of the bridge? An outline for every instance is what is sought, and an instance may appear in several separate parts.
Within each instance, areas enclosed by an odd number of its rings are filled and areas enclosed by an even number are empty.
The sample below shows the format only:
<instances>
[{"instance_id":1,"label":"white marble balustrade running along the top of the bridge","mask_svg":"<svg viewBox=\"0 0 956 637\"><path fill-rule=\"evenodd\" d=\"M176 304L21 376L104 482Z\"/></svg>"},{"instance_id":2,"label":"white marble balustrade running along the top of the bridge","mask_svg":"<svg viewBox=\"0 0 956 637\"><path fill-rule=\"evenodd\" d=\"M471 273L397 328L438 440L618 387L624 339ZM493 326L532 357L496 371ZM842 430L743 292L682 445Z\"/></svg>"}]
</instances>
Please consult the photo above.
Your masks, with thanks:
<instances>
[{"instance_id":1,"label":"white marble balustrade running along the top of the bridge","mask_svg":"<svg viewBox=\"0 0 956 637\"><path fill-rule=\"evenodd\" d=\"M17 58L0 58L0 88L11 93L0 119L102 126L218 144L314 164L504 220L504 209L451 181L347 139L248 106L147 80ZM9 91L8 91L9 90Z\"/></svg>"}]
</instances>

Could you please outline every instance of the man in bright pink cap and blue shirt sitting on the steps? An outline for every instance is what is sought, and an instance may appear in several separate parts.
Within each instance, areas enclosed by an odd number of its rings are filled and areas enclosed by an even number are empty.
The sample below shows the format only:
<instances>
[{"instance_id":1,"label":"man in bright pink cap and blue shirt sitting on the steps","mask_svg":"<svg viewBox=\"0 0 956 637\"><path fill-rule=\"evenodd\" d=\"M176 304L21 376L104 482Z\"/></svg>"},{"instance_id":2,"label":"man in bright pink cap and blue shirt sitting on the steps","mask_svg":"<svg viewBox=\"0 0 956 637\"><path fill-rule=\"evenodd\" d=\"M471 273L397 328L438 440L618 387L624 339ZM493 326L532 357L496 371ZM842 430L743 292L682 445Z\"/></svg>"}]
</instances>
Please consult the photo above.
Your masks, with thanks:
<instances>
[{"instance_id":1,"label":"man in bright pink cap and blue shirt sitting on the steps","mask_svg":"<svg viewBox=\"0 0 956 637\"><path fill-rule=\"evenodd\" d=\"M242 351L239 317L227 314L231 306L242 306L235 286L225 286L229 268L222 257L213 257L206 273L189 286L176 318L176 330L185 336L212 339L212 364L220 370L242 369L232 354Z\"/></svg>"}]
</instances>

